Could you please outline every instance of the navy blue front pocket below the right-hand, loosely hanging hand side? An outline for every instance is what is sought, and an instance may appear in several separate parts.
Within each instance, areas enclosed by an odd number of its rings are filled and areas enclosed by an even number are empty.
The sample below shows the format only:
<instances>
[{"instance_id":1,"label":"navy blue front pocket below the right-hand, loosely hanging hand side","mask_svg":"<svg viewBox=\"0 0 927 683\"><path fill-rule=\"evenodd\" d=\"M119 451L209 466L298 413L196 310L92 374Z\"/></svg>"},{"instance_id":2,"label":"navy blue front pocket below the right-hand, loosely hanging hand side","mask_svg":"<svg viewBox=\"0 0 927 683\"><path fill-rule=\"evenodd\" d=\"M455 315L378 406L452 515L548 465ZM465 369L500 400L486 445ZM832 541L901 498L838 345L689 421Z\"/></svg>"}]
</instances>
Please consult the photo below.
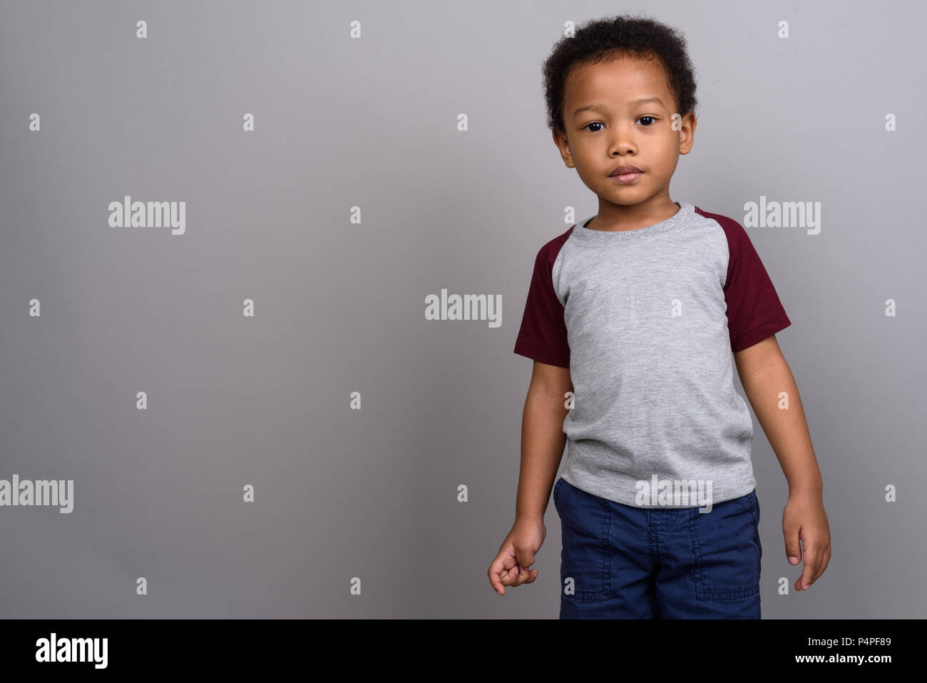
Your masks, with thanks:
<instances>
[{"instance_id":1,"label":"navy blue front pocket below the right-hand, loosely hanging hand side","mask_svg":"<svg viewBox=\"0 0 927 683\"><path fill-rule=\"evenodd\" d=\"M718 503L711 512L692 509L689 530L696 600L740 600L759 592L763 549L756 494Z\"/></svg>"}]
</instances>

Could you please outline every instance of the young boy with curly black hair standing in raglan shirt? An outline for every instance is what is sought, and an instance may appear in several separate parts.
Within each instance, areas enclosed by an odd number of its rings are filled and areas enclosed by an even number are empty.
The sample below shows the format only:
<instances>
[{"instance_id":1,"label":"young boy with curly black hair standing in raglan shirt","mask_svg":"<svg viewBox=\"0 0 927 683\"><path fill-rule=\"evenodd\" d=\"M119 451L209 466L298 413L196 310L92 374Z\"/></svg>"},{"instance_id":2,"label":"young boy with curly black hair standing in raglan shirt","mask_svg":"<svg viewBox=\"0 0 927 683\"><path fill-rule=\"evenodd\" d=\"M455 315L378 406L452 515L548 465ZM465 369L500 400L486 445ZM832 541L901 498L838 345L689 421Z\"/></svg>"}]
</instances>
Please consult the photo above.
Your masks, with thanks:
<instances>
[{"instance_id":1,"label":"young boy with curly black hair standing in raglan shirt","mask_svg":"<svg viewBox=\"0 0 927 683\"><path fill-rule=\"evenodd\" d=\"M735 364L789 483L796 590L827 568L830 529L776 290L739 223L669 196L696 124L685 40L600 19L554 47L544 78L554 143L599 210L535 261L514 348L534 360L515 522L489 581L504 595L537 577L566 444L562 619L758 619L753 420Z\"/></svg>"}]
</instances>

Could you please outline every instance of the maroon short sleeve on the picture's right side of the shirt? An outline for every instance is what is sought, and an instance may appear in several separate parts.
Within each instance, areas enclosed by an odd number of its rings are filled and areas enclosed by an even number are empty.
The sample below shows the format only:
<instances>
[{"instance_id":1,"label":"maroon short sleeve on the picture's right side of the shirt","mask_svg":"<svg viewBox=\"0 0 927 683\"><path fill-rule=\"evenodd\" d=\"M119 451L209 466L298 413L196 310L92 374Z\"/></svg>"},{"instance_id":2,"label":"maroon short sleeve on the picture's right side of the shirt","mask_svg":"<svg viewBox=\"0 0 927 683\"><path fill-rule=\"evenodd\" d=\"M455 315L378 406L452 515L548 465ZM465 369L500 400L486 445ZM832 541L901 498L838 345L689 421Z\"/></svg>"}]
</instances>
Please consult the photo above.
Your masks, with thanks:
<instances>
[{"instance_id":1,"label":"maroon short sleeve on the picture's right side of the shirt","mask_svg":"<svg viewBox=\"0 0 927 683\"><path fill-rule=\"evenodd\" d=\"M720 220L719 223L722 223ZM743 351L792 324L746 230L727 218L730 258L724 298L728 304L730 350Z\"/></svg>"}]
</instances>

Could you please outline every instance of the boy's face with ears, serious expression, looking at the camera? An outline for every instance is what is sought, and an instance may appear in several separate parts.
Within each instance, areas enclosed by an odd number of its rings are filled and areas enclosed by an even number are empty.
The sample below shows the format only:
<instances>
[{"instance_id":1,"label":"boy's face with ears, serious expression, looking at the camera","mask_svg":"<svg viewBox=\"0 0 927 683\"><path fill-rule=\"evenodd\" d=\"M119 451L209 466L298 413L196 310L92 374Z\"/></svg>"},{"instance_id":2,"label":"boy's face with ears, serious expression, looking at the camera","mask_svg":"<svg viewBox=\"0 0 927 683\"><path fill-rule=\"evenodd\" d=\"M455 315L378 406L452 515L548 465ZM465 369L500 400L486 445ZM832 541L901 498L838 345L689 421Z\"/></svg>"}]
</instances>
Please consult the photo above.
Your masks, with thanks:
<instances>
[{"instance_id":1,"label":"boy's face with ears, serious expression, looking at the camera","mask_svg":"<svg viewBox=\"0 0 927 683\"><path fill-rule=\"evenodd\" d=\"M638 101L650 97L660 102ZM596 109L583 109L589 106ZM659 61L622 57L579 67L567 79L563 113L566 135L554 133L554 143L598 195L600 213L640 204L660 211L672 204L669 181L679 154L692 148L695 116L673 130L676 102ZM642 173L618 178L619 166Z\"/></svg>"}]
</instances>

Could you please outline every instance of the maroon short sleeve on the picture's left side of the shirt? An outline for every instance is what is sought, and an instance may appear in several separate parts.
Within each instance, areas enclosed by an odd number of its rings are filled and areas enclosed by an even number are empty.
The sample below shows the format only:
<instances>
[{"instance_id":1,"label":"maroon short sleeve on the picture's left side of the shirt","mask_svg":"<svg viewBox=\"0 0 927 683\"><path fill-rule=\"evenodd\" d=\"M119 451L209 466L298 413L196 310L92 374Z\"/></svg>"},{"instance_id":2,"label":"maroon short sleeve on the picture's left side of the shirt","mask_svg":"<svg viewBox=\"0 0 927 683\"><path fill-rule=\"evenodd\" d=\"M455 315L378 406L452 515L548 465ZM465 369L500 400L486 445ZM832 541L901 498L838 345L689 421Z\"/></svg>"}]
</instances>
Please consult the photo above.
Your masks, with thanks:
<instances>
[{"instance_id":1,"label":"maroon short sleeve on the picture's left side of the shirt","mask_svg":"<svg viewBox=\"0 0 927 683\"><path fill-rule=\"evenodd\" d=\"M570 367L570 347L566 342L564 306L553 290L552 270L553 262L572 229L538 251L514 349L516 354L559 367Z\"/></svg>"}]
</instances>

